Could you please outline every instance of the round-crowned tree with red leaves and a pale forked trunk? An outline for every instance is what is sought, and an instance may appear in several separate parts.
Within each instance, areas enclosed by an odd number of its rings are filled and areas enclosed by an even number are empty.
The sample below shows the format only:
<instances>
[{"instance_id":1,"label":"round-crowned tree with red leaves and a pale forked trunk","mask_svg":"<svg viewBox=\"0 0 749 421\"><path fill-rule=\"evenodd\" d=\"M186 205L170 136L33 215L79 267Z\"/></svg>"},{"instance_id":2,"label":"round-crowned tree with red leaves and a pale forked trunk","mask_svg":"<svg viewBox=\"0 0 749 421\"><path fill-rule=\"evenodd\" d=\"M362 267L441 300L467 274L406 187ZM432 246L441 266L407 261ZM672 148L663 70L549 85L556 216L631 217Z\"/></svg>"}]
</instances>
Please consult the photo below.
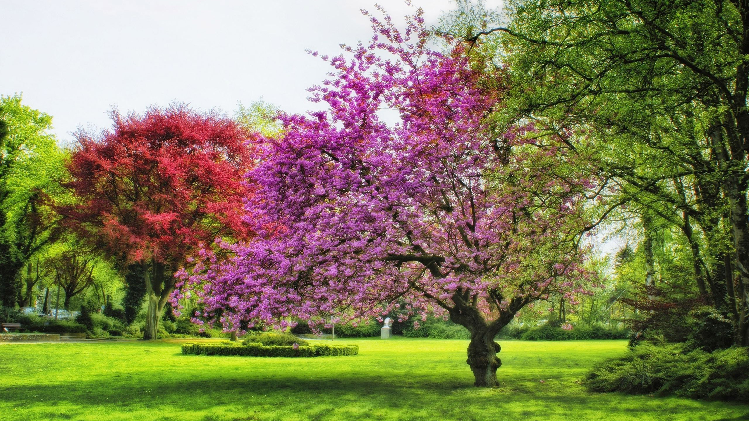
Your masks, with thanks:
<instances>
[{"instance_id":1,"label":"round-crowned tree with red leaves and a pale forked trunk","mask_svg":"<svg viewBox=\"0 0 749 421\"><path fill-rule=\"evenodd\" d=\"M113 112L112 119L112 130L76 134L67 187L77 202L59 211L79 234L142 273L143 338L156 339L173 273L186 256L216 237L248 234L240 213L249 133L184 105Z\"/></svg>"}]
</instances>

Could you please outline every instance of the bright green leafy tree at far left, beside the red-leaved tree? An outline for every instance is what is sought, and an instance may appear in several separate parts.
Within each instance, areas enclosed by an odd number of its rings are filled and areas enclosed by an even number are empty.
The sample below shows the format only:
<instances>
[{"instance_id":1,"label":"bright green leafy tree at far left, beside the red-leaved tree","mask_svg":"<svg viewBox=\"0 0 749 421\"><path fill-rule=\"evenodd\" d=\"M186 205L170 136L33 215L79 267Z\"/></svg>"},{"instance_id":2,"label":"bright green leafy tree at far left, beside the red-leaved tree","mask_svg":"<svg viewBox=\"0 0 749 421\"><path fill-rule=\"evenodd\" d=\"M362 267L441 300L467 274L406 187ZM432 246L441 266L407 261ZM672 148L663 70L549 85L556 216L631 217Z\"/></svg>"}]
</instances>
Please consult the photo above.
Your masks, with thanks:
<instances>
[{"instance_id":1,"label":"bright green leafy tree at far left, beside the red-leaved tree","mask_svg":"<svg viewBox=\"0 0 749 421\"><path fill-rule=\"evenodd\" d=\"M60 192L64 153L46 133L52 117L20 95L0 96L0 121L0 304L13 306L22 268L55 235L45 197Z\"/></svg>"}]
</instances>

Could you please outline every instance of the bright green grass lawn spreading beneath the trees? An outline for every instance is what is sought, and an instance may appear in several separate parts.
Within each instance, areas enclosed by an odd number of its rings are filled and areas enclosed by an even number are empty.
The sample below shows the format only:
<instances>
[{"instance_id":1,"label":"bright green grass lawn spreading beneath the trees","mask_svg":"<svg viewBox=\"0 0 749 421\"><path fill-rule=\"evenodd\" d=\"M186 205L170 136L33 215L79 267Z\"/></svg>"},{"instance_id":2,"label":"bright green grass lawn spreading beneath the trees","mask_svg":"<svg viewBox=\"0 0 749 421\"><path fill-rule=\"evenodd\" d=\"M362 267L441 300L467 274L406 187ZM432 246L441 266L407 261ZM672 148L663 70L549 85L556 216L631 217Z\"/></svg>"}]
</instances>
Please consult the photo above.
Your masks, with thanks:
<instances>
[{"instance_id":1,"label":"bright green grass lawn spreading beneath the trees","mask_svg":"<svg viewBox=\"0 0 749 421\"><path fill-rule=\"evenodd\" d=\"M317 358L184 356L181 342L0 345L0 420L749 420L749 405L577 383L625 341L500 342L496 389L472 386L467 341L343 339L360 354Z\"/></svg>"}]
</instances>

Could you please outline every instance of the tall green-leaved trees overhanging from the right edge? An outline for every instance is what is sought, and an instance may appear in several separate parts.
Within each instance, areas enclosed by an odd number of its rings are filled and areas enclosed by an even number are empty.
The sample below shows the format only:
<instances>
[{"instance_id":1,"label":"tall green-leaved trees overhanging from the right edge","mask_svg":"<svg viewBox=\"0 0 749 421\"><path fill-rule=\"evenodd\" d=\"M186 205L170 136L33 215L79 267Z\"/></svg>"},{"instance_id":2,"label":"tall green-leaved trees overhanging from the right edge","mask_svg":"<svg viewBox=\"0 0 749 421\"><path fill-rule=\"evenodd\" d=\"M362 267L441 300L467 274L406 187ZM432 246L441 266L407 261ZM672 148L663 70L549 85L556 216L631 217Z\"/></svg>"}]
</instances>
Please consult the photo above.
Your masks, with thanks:
<instances>
[{"instance_id":1,"label":"tall green-leaved trees overhanging from the right edge","mask_svg":"<svg viewBox=\"0 0 749 421\"><path fill-rule=\"evenodd\" d=\"M564 121L599 163L601 214L639 210L645 242L653 218L678 228L695 288L749 345L749 1L511 0L497 26L467 12L461 35L508 69L497 121Z\"/></svg>"}]
</instances>

